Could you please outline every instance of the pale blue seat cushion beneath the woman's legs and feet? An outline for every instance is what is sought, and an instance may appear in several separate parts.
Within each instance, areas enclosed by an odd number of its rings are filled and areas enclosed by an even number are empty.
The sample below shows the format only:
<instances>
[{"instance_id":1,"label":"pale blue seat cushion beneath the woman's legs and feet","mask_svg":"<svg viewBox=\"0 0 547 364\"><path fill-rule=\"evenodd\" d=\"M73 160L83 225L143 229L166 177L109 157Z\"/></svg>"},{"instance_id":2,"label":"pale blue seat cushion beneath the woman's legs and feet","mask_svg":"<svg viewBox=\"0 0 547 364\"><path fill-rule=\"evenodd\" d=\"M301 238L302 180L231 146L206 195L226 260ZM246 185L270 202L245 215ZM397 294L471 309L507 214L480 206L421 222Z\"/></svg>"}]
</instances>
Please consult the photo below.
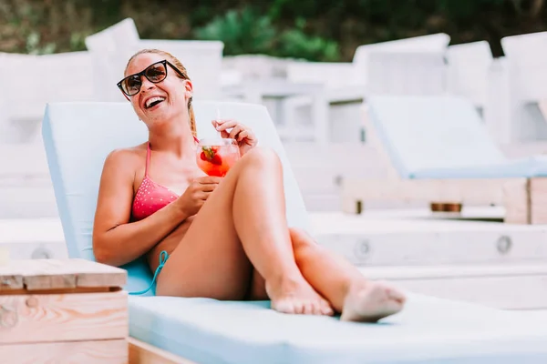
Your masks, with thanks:
<instances>
[{"instance_id":1,"label":"pale blue seat cushion beneath the woman's legs and feet","mask_svg":"<svg viewBox=\"0 0 547 364\"><path fill-rule=\"evenodd\" d=\"M514 312L421 295L410 295L404 311L380 324L284 315L262 301L131 297L129 302L132 337L202 364L539 364L547 359L547 326Z\"/></svg>"}]
</instances>

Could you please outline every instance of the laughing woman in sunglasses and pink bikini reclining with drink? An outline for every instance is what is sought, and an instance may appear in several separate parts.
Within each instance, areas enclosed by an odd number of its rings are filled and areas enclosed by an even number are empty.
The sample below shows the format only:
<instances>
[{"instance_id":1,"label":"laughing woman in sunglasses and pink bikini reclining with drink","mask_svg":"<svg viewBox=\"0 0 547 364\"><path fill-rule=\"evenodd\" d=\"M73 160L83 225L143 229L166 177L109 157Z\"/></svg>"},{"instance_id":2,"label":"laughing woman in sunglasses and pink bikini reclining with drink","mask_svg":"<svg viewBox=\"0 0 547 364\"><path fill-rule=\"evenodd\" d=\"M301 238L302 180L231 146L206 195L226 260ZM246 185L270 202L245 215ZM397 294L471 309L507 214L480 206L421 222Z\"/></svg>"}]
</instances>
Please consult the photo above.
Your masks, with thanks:
<instances>
[{"instance_id":1,"label":"laughing woman in sunglasses and pink bikini reclining with drink","mask_svg":"<svg viewBox=\"0 0 547 364\"><path fill-rule=\"evenodd\" d=\"M93 230L99 262L121 266L146 256L160 265L156 294L271 299L294 314L377 321L405 297L366 280L304 231L287 226L283 171L253 131L215 120L243 156L226 177L208 177L195 160L192 83L181 62L160 50L129 59L119 88L149 129L149 140L111 152L104 165Z\"/></svg>"}]
</instances>

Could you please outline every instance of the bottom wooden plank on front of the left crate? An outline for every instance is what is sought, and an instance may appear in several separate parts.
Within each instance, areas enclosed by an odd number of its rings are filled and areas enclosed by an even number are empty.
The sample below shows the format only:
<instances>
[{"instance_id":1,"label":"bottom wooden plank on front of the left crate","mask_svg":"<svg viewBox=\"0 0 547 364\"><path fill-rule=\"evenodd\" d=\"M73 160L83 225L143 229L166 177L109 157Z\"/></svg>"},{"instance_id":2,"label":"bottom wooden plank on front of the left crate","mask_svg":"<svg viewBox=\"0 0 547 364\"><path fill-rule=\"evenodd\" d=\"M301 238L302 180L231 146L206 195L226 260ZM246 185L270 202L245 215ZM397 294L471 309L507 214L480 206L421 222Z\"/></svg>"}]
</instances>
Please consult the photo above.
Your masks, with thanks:
<instances>
[{"instance_id":1,"label":"bottom wooden plank on front of the left crate","mask_svg":"<svg viewBox=\"0 0 547 364\"><path fill-rule=\"evenodd\" d=\"M125 339L0 345L0 362L9 364L127 364Z\"/></svg>"}]
</instances>

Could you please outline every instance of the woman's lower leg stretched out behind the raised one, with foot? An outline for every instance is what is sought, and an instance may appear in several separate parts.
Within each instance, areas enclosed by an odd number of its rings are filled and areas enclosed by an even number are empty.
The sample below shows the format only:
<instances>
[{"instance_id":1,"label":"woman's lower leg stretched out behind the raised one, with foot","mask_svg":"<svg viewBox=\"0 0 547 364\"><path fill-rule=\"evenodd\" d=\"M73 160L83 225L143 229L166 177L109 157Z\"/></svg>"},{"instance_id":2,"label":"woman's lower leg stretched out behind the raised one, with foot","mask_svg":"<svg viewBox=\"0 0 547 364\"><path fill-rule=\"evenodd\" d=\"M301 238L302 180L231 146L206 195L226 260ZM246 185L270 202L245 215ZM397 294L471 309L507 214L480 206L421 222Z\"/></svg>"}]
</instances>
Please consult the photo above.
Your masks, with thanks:
<instances>
[{"instance_id":1,"label":"woman's lower leg stretched out behind the raised one, with foot","mask_svg":"<svg viewBox=\"0 0 547 364\"><path fill-rule=\"evenodd\" d=\"M374 322L400 311L406 301L396 288L366 279L357 268L317 245L299 228L289 229L294 257L304 278L342 313L342 320ZM266 299L264 281L253 275L251 299Z\"/></svg>"}]
</instances>

